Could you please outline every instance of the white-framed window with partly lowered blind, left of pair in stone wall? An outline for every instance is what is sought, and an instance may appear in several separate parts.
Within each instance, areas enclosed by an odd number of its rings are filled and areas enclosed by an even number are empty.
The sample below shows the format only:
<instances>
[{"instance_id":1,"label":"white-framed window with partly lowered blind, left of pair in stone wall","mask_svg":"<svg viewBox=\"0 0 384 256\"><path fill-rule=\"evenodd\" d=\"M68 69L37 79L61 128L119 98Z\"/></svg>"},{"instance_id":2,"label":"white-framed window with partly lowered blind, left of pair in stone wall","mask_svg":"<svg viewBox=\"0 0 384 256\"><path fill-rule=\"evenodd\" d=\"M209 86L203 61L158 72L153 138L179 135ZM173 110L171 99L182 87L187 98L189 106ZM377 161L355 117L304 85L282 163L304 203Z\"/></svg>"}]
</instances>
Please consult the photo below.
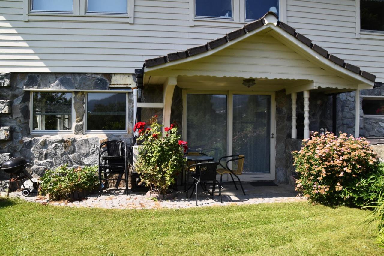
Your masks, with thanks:
<instances>
[{"instance_id":1,"label":"white-framed window with partly lowered blind, left of pair in stone wall","mask_svg":"<svg viewBox=\"0 0 384 256\"><path fill-rule=\"evenodd\" d=\"M73 93L31 91L31 134L73 133Z\"/></svg>"}]
</instances>

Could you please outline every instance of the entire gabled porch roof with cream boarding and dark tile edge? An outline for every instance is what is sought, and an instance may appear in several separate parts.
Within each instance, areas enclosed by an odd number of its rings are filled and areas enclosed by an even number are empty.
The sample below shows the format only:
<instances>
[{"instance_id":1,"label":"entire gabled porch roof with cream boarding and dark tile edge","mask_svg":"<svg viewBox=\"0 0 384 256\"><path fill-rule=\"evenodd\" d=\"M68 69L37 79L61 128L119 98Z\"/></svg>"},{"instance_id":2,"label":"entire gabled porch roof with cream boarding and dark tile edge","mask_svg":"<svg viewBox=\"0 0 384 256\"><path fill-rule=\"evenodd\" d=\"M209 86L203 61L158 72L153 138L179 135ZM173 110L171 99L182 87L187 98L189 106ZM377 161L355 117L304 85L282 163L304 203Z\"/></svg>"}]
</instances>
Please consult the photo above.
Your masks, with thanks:
<instances>
[{"instance_id":1,"label":"entire gabled porch roof with cream boarding and dark tile edge","mask_svg":"<svg viewBox=\"0 0 384 256\"><path fill-rule=\"evenodd\" d=\"M143 69L144 84L163 84L168 77L177 77L180 87L194 87L193 80L225 90L241 87L243 78L255 78L261 87L285 88L287 93L369 89L376 79L279 22L272 12L205 45L148 59Z\"/></svg>"}]
</instances>

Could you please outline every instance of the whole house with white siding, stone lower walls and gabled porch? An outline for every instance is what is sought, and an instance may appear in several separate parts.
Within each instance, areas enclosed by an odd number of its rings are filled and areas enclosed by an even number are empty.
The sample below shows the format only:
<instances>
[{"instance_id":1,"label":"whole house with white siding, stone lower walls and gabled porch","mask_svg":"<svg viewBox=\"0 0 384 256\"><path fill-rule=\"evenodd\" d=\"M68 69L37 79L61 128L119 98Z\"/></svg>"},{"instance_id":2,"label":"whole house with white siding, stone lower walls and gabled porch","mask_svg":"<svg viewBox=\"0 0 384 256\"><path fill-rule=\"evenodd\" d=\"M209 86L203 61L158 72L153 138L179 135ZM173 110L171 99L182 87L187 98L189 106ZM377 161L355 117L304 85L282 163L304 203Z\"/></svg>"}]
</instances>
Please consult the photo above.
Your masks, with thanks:
<instances>
[{"instance_id":1,"label":"whole house with white siding, stone lower walls and gabled porch","mask_svg":"<svg viewBox=\"0 0 384 256\"><path fill-rule=\"evenodd\" d=\"M290 180L310 131L384 137L384 2L0 1L0 157L97 163L134 120ZM137 118L136 118L137 117ZM136 119L135 119L136 118Z\"/></svg>"}]
</instances>

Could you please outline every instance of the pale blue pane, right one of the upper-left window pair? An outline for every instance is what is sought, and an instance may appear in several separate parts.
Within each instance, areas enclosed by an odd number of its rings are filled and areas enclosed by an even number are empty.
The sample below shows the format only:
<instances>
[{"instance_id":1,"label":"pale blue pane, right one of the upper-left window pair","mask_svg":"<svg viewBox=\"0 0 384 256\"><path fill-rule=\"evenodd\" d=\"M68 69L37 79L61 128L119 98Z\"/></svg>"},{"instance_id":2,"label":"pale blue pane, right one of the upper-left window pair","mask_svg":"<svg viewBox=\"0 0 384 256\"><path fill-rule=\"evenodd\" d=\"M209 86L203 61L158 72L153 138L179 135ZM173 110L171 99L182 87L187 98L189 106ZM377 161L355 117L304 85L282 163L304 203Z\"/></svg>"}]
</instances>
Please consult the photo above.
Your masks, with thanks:
<instances>
[{"instance_id":1,"label":"pale blue pane, right one of the upper-left window pair","mask_svg":"<svg viewBox=\"0 0 384 256\"><path fill-rule=\"evenodd\" d=\"M127 0L88 0L87 12L128 13Z\"/></svg>"}]
</instances>

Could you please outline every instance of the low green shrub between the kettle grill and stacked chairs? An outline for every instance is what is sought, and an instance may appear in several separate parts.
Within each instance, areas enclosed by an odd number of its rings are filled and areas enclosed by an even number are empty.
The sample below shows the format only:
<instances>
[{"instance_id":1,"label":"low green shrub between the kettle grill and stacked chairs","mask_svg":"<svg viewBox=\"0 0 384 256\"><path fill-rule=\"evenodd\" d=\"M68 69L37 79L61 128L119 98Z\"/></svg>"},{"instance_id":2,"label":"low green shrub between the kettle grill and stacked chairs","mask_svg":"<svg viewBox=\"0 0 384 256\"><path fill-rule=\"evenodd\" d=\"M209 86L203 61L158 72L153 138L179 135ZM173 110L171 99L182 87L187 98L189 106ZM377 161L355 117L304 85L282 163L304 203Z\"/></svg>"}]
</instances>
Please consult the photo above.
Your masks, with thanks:
<instances>
[{"instance_id":1,"label":"low green shrub between the kettle grill and stacked chairs","mask_svg":"<svg viewBox=\"0 0 384 256\"><path fill-rule=\"evenodd\" d=\"M55 170L46 170L40 178L40 192L49 194L50 199L68 199L75 191L92 191L99 184L98 166L68 168L62 165Z\"/></svg>"}]
</instances>

